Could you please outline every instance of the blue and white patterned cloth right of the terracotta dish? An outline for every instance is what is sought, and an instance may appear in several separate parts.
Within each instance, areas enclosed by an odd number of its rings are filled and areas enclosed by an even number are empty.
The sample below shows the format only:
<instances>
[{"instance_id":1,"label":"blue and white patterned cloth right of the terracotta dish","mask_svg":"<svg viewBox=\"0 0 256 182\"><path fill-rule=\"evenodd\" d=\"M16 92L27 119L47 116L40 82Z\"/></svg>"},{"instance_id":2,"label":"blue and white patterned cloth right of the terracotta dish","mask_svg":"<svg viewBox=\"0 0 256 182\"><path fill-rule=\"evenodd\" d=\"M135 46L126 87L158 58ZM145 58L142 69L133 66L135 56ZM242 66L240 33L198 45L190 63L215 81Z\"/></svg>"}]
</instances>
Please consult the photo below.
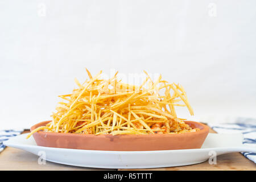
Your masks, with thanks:
<instances>
[{"instance_id":1,"label":"blue and white patterned cloth right of the terracotta dish","mask_svg":"<svg viewBox=\"0 0 256 182\"><path fill-rule=\"evenodd\" d=\"M243 144L256 147L256 119L236 118L233 123L208 123L208 125L217 133L242 133ZM256 153L242 152L242 154L256 163Z\"/></svg>"}]
</instances>

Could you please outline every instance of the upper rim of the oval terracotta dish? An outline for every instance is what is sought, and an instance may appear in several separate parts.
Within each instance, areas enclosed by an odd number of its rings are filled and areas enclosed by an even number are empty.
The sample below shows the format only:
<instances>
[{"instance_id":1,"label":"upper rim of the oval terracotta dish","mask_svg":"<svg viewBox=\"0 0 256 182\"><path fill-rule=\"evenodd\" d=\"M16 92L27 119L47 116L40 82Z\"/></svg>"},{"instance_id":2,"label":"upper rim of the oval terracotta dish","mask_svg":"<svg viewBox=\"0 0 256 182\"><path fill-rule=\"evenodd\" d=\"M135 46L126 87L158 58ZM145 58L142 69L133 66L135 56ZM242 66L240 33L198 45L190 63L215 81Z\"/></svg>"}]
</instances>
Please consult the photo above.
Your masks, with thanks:
<instances>
[{"instance_id":1,"label":"upper rim of the oval terracotta dish","mask_svg":"<svg viewBox=\"0 0 256 182\"><path fill-rule=\"evenodd\" d=\"M43 122L39 122L36 123L35 125L30 127L30 131L36 129L39 126L45 126L47 123L49 123L51 121L43 121ZM119 135L112 135L112 134L100 134L100 135L94 135L94 134L79 134L79 133L55 133L55 132L46 132L46 131L37 131L36 133L40 134L40 135L48 135L50 136L65 136L65 137L185 137L186 135L195 135L195 134L203 134L203 133L209 133L209 127L203 123L200 122L195 122L195 121L184 121L185 123L192 123L192 124L196 124L199 125L201 127L201 129L199 131L195 131L195 132L187 132L187 133L174 133L174 134L119 134ZM35 134L35 133L34 133ZM33 134L33 135L34 135Z\"/></svg>"}]
</instances>

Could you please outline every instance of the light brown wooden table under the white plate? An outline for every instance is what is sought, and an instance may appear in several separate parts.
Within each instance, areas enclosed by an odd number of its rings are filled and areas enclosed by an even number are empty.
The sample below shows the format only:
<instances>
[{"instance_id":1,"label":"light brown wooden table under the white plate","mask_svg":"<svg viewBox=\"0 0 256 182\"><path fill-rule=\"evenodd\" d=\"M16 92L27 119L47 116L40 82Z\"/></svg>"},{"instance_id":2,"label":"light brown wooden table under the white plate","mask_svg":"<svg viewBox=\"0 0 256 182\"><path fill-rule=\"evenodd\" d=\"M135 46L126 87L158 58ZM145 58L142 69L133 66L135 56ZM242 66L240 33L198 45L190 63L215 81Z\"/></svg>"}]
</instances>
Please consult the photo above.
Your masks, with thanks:
<instances>
[{"instance_id":1,"label":"light brown wooden table under the white plate","mask_svg":"<svg viewBox=\"0 0 256 182\"><path fill-rule=\"evenodd\" d=\"M25 131L24 133L26 133ZM210 133L215 133L210 129ZM210 165L208 161L200 164L193 164L190 166L167 167L167 168L153 168L153 169L96 169L67 166L64 164L57 164L46 162L46 164L38 164L38 156L26 151L16 148L6 147L0 152L0 170L253 170L256 171L256 164L246 159L239 152L224 154L217 156L217 164Z\"/></svg>"}]
</instances>

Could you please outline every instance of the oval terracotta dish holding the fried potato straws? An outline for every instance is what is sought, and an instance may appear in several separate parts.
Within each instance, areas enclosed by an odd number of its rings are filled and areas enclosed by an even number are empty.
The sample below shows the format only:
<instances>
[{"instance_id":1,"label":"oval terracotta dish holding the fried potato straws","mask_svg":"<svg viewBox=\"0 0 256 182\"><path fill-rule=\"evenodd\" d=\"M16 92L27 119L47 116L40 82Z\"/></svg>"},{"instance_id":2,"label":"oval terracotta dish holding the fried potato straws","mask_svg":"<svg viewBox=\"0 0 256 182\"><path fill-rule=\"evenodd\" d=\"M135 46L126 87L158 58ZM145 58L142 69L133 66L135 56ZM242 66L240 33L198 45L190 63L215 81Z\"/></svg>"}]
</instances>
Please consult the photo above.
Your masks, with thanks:
<instances>
[{"instance_id":1,"label":"oval terracotta dish holding the fried potato straws","mask_svg":"<svg viewBox=\"0 0 256 182\"><path fill-rule=\"evenodd\" d=\"M31 127L31 131L44 126L50 121L40 122ZM38 131L33 137L38 146L56 148L75 148L83 150L104 151L155 151L201 148L209 133L208 126L193 121L185 121L192 128L200 131L182 134L148 134L148 135L93 135L52 133Z\"/></svg>"}]
</instances>

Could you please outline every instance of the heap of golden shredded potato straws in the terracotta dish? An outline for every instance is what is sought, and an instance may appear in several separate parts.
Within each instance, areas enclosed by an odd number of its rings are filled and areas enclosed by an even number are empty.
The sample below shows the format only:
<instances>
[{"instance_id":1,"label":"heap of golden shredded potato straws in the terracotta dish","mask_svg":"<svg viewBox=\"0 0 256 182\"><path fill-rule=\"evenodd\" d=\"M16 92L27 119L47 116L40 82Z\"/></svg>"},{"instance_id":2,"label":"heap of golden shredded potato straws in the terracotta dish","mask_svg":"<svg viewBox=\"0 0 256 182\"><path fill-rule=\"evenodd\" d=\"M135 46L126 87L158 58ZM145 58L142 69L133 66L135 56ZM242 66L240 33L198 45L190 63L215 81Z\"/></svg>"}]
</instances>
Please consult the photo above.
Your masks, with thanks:
<instances>
[{"instance_id":1,"label":"heap of golden shredded potato straws in the terracotta dish","mask_svg":"<svg viewBox=\"0 0 256 182\"><path fill-rule=\"evenodd\" d=\"M101 79L101 72L78 86L71 94L59 96L64 101L57 105L52 121L28 134L44 130L56 133L77 134L174 134L195 132L184 120L177 118L175 106L187 106L183 86L169 84L159 76L152 81L147 72L141 86L118 80L117 73L110 79ZM163 96L160 96L164 90ZM180 104L180 102L183 102Z\"/></svg>"}]
</instances>

